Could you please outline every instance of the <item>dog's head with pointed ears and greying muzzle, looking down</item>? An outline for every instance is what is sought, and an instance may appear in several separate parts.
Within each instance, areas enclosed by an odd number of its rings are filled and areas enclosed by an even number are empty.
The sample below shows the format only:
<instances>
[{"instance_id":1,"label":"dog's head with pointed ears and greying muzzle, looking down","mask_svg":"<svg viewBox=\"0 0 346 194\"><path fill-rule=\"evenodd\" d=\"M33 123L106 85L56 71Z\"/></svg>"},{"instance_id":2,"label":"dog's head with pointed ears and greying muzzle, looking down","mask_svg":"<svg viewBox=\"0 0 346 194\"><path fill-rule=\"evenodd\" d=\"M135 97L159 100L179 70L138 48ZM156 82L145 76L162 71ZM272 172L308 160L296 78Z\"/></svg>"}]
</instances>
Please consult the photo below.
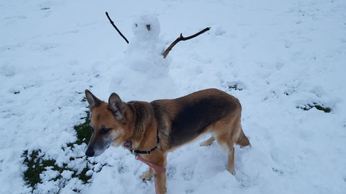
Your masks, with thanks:
<instances>
[{"instance_id":1,"label":"dog's head with pointed ears and greying muzzle, looking down","mask_svg":"<svg viewBox=\"0 0 346 194\"><path fill-rule=\"evenodd\" d=\"M112 93L108 103L101 101L89 90L85 90L86 101L91 111L91 139L85 155L101 155L110 145L120 146L129 137L126 104L116 93Z\"/></svg>"}]
</instances>

